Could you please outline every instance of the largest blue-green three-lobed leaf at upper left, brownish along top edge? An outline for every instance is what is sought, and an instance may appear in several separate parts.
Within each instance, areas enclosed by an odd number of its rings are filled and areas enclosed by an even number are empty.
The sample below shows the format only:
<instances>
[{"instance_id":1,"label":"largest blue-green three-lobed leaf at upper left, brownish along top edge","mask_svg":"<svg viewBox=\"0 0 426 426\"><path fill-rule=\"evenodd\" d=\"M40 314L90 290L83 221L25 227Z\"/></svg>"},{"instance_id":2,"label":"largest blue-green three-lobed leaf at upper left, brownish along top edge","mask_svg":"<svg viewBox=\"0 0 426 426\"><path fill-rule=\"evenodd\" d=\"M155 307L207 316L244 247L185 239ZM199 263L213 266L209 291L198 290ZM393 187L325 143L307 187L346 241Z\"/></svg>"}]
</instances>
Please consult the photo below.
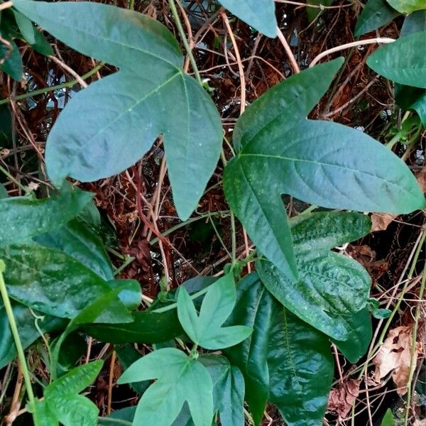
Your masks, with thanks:
<instances>
[{"instance_id":1,"label":"largest blue-green three-lobed leaf at upper left, brownish along top edge","mask_svg":"<svg viewBox=\"0 0 426 426\"><path fill-rule=\"evenodd\" d=\"M53 183L60 186L67 175L87 182L119 173L162 133L173 200L186 220L217 165L222 125L212 99L182 72L170 31L104 4L13 5L71 48L120 68L76 94L50 131L46 165Z\"/></svg>"}]
</instances>

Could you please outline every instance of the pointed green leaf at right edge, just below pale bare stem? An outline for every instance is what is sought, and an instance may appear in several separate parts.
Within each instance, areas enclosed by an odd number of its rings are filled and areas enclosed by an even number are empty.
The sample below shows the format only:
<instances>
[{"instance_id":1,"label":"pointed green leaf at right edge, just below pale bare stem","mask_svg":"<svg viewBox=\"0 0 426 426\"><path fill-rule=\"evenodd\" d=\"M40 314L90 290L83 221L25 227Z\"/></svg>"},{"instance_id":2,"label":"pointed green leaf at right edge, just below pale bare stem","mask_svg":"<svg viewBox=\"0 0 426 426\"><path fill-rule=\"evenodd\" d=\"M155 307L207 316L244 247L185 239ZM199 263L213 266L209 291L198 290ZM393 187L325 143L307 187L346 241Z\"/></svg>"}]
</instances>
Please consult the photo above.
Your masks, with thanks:
<instances>
[{"instance_id":1,"label":"pointed green leaf at right edge, just below pale bare stem","mask_svg":"<svg viewBox=\"0 0 426 426\"><path fill-rule=\"evenodd\" d=\"M426 31L399 38L370 55L367 65L389 80L426 89L426 55L419 48L425 43Z\"/></svg>"}]
</instances>

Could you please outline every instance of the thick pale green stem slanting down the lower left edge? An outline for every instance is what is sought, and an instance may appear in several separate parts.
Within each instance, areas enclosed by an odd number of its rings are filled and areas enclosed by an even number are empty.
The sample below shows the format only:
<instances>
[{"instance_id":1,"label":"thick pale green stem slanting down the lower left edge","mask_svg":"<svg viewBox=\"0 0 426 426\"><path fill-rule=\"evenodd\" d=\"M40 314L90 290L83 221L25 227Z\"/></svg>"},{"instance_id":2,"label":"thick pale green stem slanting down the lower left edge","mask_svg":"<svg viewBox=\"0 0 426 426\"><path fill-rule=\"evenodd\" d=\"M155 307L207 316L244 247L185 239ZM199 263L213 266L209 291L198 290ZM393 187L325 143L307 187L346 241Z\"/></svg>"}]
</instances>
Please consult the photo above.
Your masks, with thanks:
<instances>
[{"instance_id":1,"label":"thick pale green stem slanting down the lower left edge","mask_svg":"<svg viewBox=\"0 0 426 426\"><path fill-rule=\"evenodd\" d=\"M11 327L13 340L15 341L16 351L18 352L19 365L21 366L23 380L25 381L26 391L28 393L28 400L30 402L31 407L34 408L35 397L33 393L33 388L31 387L30 372L28 371L28 366L26 364L21 339L19 338L18 327L16 326L15 317L13 315L11 300L9 299L9 294L7 293L6 283L4 283L3 273L5 268L6 266L4 265L4 261L0 260L0 293L1 297L3 298L4 309L6 310L7 319L9 320L9 326Z\"/></svg>"}]
</instances>

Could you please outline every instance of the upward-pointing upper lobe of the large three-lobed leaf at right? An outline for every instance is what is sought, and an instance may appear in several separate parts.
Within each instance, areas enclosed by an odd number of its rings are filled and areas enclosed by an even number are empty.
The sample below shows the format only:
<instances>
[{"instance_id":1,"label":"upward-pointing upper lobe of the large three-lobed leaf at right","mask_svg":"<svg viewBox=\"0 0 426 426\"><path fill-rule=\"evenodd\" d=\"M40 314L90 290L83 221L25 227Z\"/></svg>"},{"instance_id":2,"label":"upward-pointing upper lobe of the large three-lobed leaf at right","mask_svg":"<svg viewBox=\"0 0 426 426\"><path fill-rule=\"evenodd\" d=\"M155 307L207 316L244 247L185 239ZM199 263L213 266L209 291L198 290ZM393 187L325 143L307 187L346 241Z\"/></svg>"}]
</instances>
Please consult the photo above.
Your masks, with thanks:
<instances>
[{"instance_id":1,"label":"upward-pointing upper lobe of the large three-lobed leaf at right","mask_svg":"<svg viewBox=\"0 0 426 426\"><path fill-rule=\"evenodd\" d=\"M256 99L236 121L232 136L236 151L260 136L268 126L287 121L290 114L292 121L305 118L327 92L343 62L343 58L337 58L303 70Z\"/></svg>"}]
</instances>

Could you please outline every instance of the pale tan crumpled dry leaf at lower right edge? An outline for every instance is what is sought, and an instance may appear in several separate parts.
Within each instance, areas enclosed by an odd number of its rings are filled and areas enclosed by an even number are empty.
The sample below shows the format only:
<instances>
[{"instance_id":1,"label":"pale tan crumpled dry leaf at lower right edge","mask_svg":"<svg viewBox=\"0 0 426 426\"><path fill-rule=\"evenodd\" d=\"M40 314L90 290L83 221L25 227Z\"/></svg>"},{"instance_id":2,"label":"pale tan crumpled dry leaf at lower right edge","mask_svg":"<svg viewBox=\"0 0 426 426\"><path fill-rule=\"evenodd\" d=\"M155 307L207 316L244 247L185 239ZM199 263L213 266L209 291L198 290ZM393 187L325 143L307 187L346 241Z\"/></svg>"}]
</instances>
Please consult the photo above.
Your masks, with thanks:
<instances>
[{"instance_id":1,"label":"pale tan crumpled dry leaf at lower right edge","mask_svg":"<svg viewBox=\"0 0 426 426\"><path fill-rule=\"evenodd\" d=\"M413 359L413 365L415 365L417 363L417 356L422 351L421 342L416 342L415 352L412 356L412 334L412 327L391 329L387 339L373 359L373 364L376 366L374 373L376 381L381 383L381 379L392 371L393 381L398 387L398 395L405 395L407 393L411 359Z\"/></svg>"}]
</instances>

